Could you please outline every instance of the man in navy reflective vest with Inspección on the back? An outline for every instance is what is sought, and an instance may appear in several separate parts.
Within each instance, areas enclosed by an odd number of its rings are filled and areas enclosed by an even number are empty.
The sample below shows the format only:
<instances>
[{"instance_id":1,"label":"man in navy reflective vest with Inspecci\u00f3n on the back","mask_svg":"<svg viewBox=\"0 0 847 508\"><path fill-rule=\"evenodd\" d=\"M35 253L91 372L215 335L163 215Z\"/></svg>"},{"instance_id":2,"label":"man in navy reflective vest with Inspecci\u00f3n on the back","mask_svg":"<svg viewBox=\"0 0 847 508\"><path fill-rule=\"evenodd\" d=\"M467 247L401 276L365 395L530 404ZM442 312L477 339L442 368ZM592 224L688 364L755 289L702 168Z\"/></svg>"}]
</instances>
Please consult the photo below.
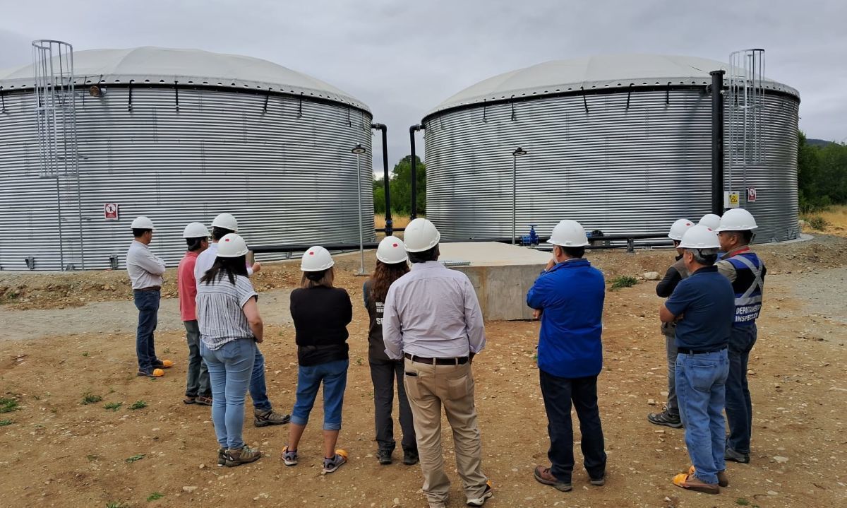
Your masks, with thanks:
<instances>
[{"instance_id":1,"label":"man in navy reflective vest with Inspecci\u00f3n on the back","mask_svg":"<svg viewBox=\"0 0 847 508\"><path fill-rule=\"evenodd\" d=\"M728 209L721 217L717 237L723 254L717 270L729 279L735 293L735 316L729 339L729 377L727 379L726 458L750 462L750 434L753 428L753 405L747 386L747 361L756 343L756 319L761 311L765 287L764 261L750 250L756 219L743 208Z\"/></svg>"}]
</instances>

